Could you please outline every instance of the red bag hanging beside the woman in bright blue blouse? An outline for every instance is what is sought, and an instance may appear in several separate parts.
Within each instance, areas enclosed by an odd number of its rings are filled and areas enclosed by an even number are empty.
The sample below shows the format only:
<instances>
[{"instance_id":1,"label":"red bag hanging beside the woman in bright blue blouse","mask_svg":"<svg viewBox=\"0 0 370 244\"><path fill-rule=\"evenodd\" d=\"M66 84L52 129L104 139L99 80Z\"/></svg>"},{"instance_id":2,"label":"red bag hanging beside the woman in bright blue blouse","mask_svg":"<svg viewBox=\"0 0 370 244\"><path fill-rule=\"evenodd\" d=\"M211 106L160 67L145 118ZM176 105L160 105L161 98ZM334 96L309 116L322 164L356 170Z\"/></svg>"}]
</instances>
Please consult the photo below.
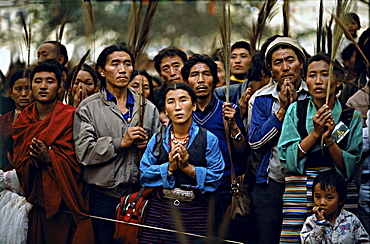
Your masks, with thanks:
<instances>
[{"instance_id":1,"label":"red bag hanging beside the woman in bright blue blouse","mask_svg":"<svg viewBox=\"0 0 370 244\"><path fill-rule=\"evenodd\" d=\"M139 192L121 197L117 206L117 220L143 224L146 208L153 188L142 187ZM142 227L116 222L114 239L121 243L139 243Z\"/></svg>"}]
</instances>

